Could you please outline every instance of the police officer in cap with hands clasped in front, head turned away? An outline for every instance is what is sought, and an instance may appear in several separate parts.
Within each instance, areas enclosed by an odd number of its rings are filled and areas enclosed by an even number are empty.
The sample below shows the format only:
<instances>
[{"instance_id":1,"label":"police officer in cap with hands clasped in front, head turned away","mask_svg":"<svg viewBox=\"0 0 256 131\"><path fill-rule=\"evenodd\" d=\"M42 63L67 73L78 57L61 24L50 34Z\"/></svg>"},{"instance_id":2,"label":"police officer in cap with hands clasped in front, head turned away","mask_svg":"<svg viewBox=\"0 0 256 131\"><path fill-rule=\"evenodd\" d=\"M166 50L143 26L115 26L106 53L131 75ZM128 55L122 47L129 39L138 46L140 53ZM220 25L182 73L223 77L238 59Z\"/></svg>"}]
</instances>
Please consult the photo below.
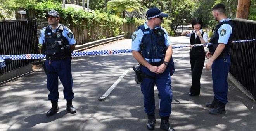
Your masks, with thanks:
<instances>
[{"instance_id":1,"label":"police officer in cap with hands clasped in front, head turned away","mask_svg":"<svg viewBox=\"0 0 256 131\"><path fill-rule=\"evenodd\" d=\"M132 35L132 54L140 63L142 82L141 91L144 96L144 111L148 116L147 129L153 130L156 123L154 86L157 86L161 96L159 114L160 128L174 131L169 124L171 114L171 77L169 61L172 55L172 46L166 30L161 27L163 17L168 17L158 8L150 8L147 13L147 22L140 25Z\"/></svg>"}]
</instances>

